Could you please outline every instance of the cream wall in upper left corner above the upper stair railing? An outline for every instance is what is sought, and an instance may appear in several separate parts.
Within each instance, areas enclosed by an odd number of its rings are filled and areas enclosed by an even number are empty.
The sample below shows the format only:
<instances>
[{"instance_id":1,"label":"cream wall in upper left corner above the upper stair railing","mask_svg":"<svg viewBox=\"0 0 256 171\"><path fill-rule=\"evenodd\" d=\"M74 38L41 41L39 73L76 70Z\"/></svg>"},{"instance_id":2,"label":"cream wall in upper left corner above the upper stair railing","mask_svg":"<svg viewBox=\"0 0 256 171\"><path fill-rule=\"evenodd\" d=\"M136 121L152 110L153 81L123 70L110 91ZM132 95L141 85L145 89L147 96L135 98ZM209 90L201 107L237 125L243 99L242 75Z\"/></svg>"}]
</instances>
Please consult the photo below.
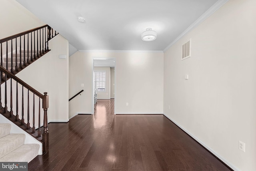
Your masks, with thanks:
<instances>
[{"instance_id":1,"label":"cream wall in upper left corner above the upper stair railing","mask_svg":"<svg viewBox=\"0 0 256 171\"><path fill-rule=\"evenodd\" d=\"M15 0L0 1L0 39L44 25Z\"/></svg>"}]
</instances>

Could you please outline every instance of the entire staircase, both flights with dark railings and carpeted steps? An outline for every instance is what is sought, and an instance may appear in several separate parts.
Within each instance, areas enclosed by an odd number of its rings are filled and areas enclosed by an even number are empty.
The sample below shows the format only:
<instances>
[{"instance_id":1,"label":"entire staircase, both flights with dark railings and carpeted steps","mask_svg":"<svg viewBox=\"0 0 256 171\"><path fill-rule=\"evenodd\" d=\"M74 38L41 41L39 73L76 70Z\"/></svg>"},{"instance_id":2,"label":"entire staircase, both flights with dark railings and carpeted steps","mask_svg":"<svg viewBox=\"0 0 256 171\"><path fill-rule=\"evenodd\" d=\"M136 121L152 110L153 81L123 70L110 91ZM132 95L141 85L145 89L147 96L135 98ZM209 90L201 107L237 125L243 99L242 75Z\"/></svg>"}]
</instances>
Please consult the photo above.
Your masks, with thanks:
<instances>
[{"instance_id":1,"label":"entire staircase, both flights with dark railings and carpeted steps","mask_svg":"<svg viewBox=\"0 0 256 171\"><path fill-rule=\"evenodd\" d=\"M25 144L25 134L10 134L10 123L0 123L1 162L30 162L48 152L48 95L15 74L50 52L48 41L57 34L45 25L0 40L0 114L42 143L42 148L39 144Z\"/></svg>"}]
</instances>

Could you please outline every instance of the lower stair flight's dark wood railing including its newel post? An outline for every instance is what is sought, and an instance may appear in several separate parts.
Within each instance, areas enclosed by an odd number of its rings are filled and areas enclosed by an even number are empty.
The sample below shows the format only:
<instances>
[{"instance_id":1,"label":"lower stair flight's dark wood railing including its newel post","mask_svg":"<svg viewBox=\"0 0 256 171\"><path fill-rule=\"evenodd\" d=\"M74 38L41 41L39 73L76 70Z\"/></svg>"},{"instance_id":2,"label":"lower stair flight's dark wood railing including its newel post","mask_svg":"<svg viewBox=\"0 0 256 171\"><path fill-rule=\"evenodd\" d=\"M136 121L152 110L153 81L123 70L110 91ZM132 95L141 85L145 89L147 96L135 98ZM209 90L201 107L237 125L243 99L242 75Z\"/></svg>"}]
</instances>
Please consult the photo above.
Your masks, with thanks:
<instances>
[{"instance_id":1,"label":"lower stair flight's dark wood railing including its newel post","mask_svg":"<svg viewBox=\"0 0 256 171\"><path fill-rule=\"evenodd\" d=\"M38 141L41 141L43 144L43 153L46 153L49 149L47 121L49 96L47 93L42 94L38 92L4 67L0 66L0 80L2 80L3 75L4 80L7 80L7 77L10 79L0 85L0 113L34 138L38 139ZM4 98L3 105L2 97ZM42 109L40 106L42 106ZM25 109L27 109L27 112L25 112ZM44 113L43 120L41 117L42 110ZM27 113L27 115L24 113ZM31 118L32 127L30 127ZM44 127L42 135L41 125Z\"/></svg>"}]
</instances>

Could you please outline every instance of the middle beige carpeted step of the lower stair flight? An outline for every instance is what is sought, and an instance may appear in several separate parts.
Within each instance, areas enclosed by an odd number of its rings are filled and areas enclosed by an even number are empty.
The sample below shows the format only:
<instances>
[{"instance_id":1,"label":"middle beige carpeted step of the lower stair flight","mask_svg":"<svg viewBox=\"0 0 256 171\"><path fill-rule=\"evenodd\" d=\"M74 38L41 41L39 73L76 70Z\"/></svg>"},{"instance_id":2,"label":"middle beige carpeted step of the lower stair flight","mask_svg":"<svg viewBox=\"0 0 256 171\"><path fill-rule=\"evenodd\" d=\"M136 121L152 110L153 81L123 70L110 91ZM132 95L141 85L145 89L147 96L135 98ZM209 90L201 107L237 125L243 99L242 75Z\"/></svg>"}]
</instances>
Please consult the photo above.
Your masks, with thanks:
<instances>
[{"instance_id":1,"label":"middle beige carpeted step of the lower stair flight","mask_svg":"<svg viewBox=\"0 0 256 171\"><path fill-rule=\"evenodd\" d=\"M12 133L0 138L0 157L23 145L25 138L26 135L23 133Z\"/></svg>"}]
</instances>

